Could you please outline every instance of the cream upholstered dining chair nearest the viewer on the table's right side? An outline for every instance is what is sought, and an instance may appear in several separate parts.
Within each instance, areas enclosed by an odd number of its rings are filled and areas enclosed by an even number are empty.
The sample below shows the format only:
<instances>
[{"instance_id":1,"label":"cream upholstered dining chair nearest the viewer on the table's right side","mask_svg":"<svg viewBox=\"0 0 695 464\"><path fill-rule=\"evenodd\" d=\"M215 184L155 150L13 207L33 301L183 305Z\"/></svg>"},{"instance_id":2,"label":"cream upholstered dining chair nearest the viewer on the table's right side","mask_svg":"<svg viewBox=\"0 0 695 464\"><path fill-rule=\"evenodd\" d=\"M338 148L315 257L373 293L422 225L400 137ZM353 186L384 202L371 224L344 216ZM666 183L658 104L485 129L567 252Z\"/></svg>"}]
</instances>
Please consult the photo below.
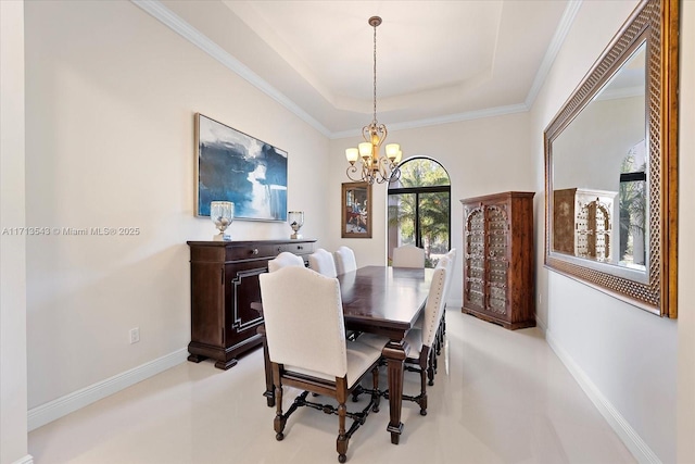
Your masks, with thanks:
<instances>
[{"instance_id":1,"label":"cream upholstered dining chair nearest the viewer on the table's right side","mask_svg":"<svg viewBox=\"0 0 695 464\"><path fill-rule=\"evenodd\" d=\"M420 374L420 394L403 394L403 399L418 403L421 415L427 415L427 379L429 377L430 381L432 381L434 378L434 343L440 318L444 311L447 261L447 259L442 258L434 268L434 275L425 305L422 328L413 328L405 337L405 341L410 346L410 352L405 360L405 368Z\"/></svg>"}]
</instances>

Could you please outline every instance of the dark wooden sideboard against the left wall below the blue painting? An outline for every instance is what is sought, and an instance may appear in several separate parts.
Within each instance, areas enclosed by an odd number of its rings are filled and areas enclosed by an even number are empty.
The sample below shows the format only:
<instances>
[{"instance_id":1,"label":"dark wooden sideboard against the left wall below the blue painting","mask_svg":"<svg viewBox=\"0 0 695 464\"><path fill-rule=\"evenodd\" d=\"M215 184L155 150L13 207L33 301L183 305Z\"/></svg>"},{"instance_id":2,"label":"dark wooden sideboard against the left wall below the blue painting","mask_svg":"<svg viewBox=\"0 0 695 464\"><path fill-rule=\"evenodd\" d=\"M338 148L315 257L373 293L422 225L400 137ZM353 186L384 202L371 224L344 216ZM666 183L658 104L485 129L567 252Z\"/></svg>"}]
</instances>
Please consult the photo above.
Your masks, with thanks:
<instances>
[{"instance_id":1,"label":"dark wooden sideboard against the left wall below the blue painting","mask_svg":"<svg viewBox=\"0 0 695 464\"><path fill-rule=\"evenodd\" d=\"M191 252L191 342L189 361L206 358L228 369L237 356L263 342L258 274L282 251L308 259L316 240L188 241Z\"/></svg>"}]
</instances>

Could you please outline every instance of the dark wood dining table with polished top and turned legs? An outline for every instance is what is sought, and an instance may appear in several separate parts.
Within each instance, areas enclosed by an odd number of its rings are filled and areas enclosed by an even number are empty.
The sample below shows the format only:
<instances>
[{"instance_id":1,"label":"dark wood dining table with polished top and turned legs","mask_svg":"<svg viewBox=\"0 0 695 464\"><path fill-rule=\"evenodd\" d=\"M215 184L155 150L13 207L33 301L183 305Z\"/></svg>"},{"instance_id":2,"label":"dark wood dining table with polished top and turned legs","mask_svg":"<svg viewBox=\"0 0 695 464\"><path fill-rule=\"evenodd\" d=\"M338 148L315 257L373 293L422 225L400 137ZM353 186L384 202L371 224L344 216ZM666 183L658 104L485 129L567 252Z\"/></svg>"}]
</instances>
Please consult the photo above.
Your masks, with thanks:
<instances>
[{"instance_id":1,"label":"dark wood dining table with polished top and turned legs","mask_svg":"<svg viewBox=\"0 0 695 464\"><path fill-rule=\"evenodd\" d=\"M390 421L387 430L394 444L399 443L403 432L403 362L409 351L405 336L425 309L433 272L434 269L429 268L366 266L338 276L345 329L378 334L391 340L383 348L383 358L389 379ZM264 396L268 406L274 406L275 393L265 327L260 327L258 333L263 336L265 359Z\"/></svg>"}]
</instances>

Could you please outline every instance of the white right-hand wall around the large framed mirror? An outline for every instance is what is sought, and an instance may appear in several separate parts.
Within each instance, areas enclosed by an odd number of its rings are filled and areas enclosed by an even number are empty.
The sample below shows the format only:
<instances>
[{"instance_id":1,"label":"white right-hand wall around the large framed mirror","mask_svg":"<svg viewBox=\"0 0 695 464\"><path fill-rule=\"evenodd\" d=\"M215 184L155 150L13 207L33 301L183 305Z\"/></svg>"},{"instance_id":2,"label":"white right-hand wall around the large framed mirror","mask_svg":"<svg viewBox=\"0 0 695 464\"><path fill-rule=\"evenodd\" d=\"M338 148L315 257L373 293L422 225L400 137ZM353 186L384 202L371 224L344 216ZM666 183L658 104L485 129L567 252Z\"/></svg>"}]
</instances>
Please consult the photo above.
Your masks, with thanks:
<instances>
[{"instance_id":1,"label":"white right-hand wall around the large framed mirror","mask_svg":"<svg viewBox=\"0 0 695 464\"><path fill-rule=\"evenodd\" d=\"M532 109L536 190L544 190L541 134L635 7L634 1L585 1ZM687 200L681 196L683 211ZM692 201L692 200L691 200ZM692 208L692 204L691 204ZM543 217L536 217L538 259L543 261ZM687 261L680 254L681 262ZM639 435L631 446L640 459L675 462L677 329L660 318L539 265L543 304L539 317L547 338L584 387L615 410ZM596 398L594 398L595 400ZM603 411L606 413L606 411ZM640 442L644 440L644 443ZM634 443L633 443L634 444ZM649 452L650 450L650 452Z\"/></svg>"}]
</instances>

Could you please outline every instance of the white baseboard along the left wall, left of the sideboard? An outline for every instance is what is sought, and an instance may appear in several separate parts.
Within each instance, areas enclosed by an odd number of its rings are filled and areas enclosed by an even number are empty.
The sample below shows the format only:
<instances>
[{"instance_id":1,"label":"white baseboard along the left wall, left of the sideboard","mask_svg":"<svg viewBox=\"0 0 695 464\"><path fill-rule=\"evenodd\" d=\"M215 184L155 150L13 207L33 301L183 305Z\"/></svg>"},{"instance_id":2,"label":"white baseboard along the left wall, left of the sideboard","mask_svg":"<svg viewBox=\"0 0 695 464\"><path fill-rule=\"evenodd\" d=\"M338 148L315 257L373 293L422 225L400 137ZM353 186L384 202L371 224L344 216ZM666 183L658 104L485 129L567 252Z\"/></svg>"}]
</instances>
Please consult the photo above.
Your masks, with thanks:
<instances>
[{"instance_id":1,"label":"white baseboard along the left wall, left of the sideboard","mask_svg":"<svg viewBox=\"0 0 695 464\"><path fill-rule=\"evenodd\" d=\"M28 412L28 429L31 431L146 378L186 362L188 350L184 348L40 406L33 407Z\"/></svg>"}]
</instances>

